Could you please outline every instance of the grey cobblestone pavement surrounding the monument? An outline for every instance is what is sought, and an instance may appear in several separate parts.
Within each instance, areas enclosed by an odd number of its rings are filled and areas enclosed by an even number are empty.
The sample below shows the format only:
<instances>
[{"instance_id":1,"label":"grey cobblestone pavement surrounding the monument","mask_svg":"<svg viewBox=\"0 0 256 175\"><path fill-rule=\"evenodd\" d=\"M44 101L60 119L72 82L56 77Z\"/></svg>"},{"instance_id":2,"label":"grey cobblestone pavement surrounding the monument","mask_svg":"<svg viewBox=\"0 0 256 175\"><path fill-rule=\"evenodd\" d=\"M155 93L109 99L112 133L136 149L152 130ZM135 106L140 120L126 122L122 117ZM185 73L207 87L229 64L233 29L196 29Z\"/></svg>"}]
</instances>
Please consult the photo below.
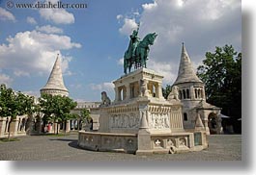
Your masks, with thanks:
<instances>
[{"instance_id":1,"label":"grey cobblestone pavement surrounding the monument","mask_svg":"<svg viewBox=\"0 0 256 175\"><path fill-rule=\"evenodd\" d=\"M201 152L136 156L93 152L77 147L77 135L27 136L19 141L0 141L0 161L241 161L241 135L209 136L210 146Z\"/></svg>"}]
</instances>

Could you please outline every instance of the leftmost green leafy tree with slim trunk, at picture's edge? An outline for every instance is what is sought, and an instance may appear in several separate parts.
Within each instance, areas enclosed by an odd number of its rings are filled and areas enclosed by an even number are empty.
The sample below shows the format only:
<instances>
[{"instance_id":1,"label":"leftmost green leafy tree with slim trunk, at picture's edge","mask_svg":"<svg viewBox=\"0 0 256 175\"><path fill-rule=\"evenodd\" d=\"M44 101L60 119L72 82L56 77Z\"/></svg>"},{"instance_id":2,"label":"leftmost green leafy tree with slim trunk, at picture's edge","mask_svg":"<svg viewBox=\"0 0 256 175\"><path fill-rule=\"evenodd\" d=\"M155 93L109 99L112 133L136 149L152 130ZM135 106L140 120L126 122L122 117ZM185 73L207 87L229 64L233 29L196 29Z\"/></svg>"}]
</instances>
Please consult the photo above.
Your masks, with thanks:
<instances>
[{"instance_id":1,"label":"leftmost green leafy tree with slim trunk, at picture's edge","mask_svg":"<svg viewBox=\"0 0 256 175\"><path fill-rule=\"evenodd\" d=\"M10 127L17 115L32 114L34 111L34 97L15 92L6 85L0 87L0 116L11 117L8 125L8 138L11 136Z\"/></svg>"}]
</instances>

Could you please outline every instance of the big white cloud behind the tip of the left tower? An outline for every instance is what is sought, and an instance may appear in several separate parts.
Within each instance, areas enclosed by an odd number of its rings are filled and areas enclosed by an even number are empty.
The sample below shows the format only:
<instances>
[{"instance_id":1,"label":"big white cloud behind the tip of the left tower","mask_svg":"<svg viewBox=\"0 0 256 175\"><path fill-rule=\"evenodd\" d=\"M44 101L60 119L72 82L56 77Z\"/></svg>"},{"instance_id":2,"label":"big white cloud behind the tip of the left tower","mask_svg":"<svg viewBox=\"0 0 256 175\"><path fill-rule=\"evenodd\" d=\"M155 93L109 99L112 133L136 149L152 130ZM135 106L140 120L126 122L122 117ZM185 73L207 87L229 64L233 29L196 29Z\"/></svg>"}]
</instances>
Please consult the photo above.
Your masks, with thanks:
<instances>
[{"instance_id":1,"label":"big white cloud behind the tip of the left tower","mask_svg":"<svg viewBox=\"0 0 256 175\"><path fill-rule=\"evenodd\" d=\"M50 72L61 50L80 48L70 37L43 34L37 31L17 33L0 45L0 68L12 70L15 76L43 75ZM22 54L20 54L22 53ZM60 54L63 72L68 72L71 57Z\"/></svg>"}]
</instances>

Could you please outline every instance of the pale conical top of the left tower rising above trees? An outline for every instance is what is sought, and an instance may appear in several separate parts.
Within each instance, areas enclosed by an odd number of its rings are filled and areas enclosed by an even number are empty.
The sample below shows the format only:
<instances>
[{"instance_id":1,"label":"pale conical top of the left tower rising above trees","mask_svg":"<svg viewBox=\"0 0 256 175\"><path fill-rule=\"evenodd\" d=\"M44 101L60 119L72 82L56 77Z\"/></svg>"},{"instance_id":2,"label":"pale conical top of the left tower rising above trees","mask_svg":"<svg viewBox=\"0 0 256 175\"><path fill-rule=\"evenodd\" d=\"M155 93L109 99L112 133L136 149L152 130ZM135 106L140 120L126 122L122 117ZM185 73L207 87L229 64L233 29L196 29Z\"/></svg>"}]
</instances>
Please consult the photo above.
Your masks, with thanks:
<instances>
[{"instance_id":1,"label":"pale conical top of the left tower rising above trees","mask_svg":"<svg viewBox=\"0 0 256 175\"><path fill-rule=\"evenodd\" d=\"M61 59L59 54L57 56L56 62L53 65L50 76L46 85L40 90L42 93L53 94L53 95L63 95L69 96L69 90L64 85L61 69Z\"/></svg>"}]
</instances>

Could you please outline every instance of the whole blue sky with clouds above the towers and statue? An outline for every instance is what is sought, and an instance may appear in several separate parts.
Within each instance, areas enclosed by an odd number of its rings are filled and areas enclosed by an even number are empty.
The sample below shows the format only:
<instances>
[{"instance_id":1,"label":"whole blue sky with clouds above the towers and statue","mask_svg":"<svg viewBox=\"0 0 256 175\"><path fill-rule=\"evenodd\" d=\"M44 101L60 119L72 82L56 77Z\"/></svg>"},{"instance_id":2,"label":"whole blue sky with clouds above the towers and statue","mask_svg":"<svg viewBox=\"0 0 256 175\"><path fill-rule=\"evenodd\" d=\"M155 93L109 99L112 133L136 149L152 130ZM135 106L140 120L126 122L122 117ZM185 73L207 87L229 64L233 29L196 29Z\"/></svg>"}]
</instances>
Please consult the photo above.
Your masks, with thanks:
<instances>
[{"instance_id":1,"label":"whole blue sky with clouds above the towers and statue","mask_svg":"<svg viewBox=\"0 0 256 175\"><path fill-rule=\"evenodd\" d=\"M71 98L100 101L100 91L105 90L114 99L111 82L123 75L128 36L138 22L140 38L158 34L148 68L164 76L163 85L172 85L176 79L182 42L195 67L215 46L232 44L237 51L242 49L238 0L63 2L86 3L87 8L8 9L7 0L0 0L1 84L39 95L60 53Z\"/></svg>"}]
</instances>

